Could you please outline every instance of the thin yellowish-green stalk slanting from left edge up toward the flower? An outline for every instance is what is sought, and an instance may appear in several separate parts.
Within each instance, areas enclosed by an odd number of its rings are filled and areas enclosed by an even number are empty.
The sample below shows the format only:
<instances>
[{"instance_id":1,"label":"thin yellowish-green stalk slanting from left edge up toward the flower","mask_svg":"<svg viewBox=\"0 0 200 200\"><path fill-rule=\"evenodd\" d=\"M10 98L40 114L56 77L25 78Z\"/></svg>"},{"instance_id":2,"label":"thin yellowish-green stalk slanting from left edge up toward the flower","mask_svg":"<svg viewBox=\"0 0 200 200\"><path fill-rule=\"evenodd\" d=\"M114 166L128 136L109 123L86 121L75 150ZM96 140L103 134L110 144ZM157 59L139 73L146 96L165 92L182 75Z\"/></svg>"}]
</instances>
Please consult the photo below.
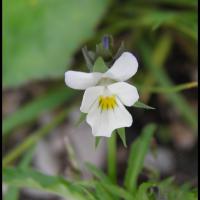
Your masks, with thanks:
<instances>
[{"instance_id":1,"label":"thin yellowish-green stalk slanting from left edge up toward the flower","mask_svg":"<svg viewBox=\"0 0 200 200\"><path fill-rule=\"evenodd\" d=\"M17 159L21 154L23 154L28 148L36 144L42 137L50 133L50 131L58 126L68 115L68 113L74 107L71 106L70 109L66 109L59 113L50 123L42 127L40 130L36 131L35 133L31 134L28 138L25 139L19 146L11 150L5 158L3 159L3 166L8 165L15 159Z\"/></svg>"}]
</instances>

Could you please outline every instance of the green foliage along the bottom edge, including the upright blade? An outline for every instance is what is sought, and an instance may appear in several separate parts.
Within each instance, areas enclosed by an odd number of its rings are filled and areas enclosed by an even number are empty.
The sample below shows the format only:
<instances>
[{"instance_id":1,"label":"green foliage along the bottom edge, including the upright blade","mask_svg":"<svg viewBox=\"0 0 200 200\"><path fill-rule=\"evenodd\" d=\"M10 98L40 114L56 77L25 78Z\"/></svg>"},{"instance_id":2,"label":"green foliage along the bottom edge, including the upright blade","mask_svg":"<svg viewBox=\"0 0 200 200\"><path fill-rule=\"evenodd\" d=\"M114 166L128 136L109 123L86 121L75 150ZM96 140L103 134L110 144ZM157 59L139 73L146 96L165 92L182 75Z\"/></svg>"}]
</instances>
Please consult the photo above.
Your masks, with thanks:
<instances>
[{"instance_id":1,"label":"green foliage along the bottom edge, including the upright blade","mask_svg":"<svg viewBox=\"0 0 200 200\"><path fill-rule=\"evenodd\" d=\"M100 169L87 163L87 169L93 174L94 179L82 181L69 181L58 176L48 176L31 168L11 168L3 170L3 181L15 187L28 187L57 194L64 198L76 200L196 200L197 192L189 186L177 187L172 178L163 181L149 181L140 184L137 189L136 178L142 170L144 157L149 149L155 125L147 125L142 135L131 146L127 174L125 180L128 186L122 187L113 183ZM137 152L139 152L137 154ZM136 156L136 158L134 158ZM115 166L117 169L117 166ZM115 169L115 170L116 170ZM125 181L126 184L126 181ZM133 190L134 189L134 190Z\"/></svg>"}]
</instances>

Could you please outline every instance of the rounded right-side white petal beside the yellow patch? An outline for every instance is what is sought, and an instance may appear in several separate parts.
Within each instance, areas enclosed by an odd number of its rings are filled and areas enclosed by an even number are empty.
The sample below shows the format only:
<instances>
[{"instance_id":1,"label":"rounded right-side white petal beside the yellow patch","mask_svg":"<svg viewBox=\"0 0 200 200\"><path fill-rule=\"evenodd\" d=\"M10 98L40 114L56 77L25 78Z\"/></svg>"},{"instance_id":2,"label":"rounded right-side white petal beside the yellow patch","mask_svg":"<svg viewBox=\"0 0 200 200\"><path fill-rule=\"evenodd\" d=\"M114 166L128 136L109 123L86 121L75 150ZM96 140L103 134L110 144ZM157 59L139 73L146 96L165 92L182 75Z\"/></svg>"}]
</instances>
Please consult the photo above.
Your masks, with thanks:
<instances>
[{"instance_id":1,"label":"rounded right-side white petal beside the yellow patch","mask_svg":"<svg viewBox=\"0 0 200 200\"><path fill-rule=\"evenodd\" d=\"M111 84L108 89L126 106L132 106L139 99L137 88L125 82Z\"/></svg>"}]
</instances>

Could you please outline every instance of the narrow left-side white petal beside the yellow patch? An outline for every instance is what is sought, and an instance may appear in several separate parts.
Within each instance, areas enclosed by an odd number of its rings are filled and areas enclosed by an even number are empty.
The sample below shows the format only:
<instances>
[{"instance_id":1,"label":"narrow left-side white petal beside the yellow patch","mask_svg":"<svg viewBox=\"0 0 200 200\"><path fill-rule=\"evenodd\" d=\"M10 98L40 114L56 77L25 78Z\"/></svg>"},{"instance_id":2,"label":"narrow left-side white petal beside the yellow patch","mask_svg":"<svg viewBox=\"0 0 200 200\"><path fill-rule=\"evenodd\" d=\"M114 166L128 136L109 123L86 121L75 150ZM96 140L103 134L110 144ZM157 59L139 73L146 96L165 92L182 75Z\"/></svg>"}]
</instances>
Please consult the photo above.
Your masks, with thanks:
<instances>
[{"instance_id":1,"label":"narrow left-side white petal beside the yellow patch","mask_svg":"<svg viewBox=\"0 0 200 200\"><path fill-rule=\"evenodd\" d=\"M83 95L83 100L81 103L80 110L81 112L88 113L91 106L98 99L104 90L103 86L95 86L86 89Z\"/></svg>"}]
</instances>

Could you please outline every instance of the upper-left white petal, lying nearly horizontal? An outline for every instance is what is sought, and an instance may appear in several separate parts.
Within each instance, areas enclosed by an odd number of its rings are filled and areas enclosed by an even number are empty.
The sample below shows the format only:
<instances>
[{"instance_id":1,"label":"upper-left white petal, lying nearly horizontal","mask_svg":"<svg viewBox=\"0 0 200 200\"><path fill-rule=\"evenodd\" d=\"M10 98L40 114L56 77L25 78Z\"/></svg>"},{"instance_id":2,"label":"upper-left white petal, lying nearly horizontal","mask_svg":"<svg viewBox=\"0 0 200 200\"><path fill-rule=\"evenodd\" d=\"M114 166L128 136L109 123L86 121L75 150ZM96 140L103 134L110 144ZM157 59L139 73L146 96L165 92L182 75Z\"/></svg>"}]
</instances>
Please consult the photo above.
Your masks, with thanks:
<instances>
[{"instance_id":1,"label":"upper-left white petal, lying nearly horizontal","mask_svg":"<svg viewBox=\"0 0 200 200\"><path fill-rule=\"evenodd\" d=\"M88 87L95 86L101 79L102 73L85 73L76 71L65 72L65 83L67 86L78 89L85 90Z\"/></svg>"}]
</instances>

